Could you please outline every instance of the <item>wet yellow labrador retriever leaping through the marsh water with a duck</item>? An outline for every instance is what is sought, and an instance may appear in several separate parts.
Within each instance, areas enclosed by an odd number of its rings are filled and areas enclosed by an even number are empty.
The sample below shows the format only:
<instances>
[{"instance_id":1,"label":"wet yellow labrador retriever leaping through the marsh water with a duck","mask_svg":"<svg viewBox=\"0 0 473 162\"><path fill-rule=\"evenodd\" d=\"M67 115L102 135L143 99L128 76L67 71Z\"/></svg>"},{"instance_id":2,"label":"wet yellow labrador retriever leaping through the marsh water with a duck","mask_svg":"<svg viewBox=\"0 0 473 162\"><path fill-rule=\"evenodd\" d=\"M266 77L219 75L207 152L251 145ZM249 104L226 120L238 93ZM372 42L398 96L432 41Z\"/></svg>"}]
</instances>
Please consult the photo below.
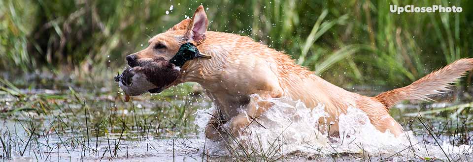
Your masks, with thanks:
<instances>
[{"instance_id":1,"label":"wet yellow labrador retriever leaping through the marsh water with a duck","mask_svg":"<svg viewBox=\"0 0 473 162\"><path fill-rule=\"evenodd\" d=\"M130 66L157 56L169 60L187 42L196 45L202 54L210 55L211 59L188 61L171 84L198 82L213 100L217 110L205 130L210 139L221 137L221 125L226 122L230 122L229 132L241 135L252 120L271 108L273 103L268 99L280 97L300 100L308 108L322 104L329 115L319 119L325 125L320 131L333 136L338 136L338 116L346 113L349 106L363 110L377 130L389 130L398 136L403 128L389 115L390 107L403 100L424 100L447 90L449 83L473 68L472 58L460 59L408 86L367 97L323 80L283 52L246 36L206 31L207 25L201 5L193 19L183 20L154 36L146 49L128 55L127 60ZM332 125L328 127L329 124Z\"/></svg>"}]
</instances>

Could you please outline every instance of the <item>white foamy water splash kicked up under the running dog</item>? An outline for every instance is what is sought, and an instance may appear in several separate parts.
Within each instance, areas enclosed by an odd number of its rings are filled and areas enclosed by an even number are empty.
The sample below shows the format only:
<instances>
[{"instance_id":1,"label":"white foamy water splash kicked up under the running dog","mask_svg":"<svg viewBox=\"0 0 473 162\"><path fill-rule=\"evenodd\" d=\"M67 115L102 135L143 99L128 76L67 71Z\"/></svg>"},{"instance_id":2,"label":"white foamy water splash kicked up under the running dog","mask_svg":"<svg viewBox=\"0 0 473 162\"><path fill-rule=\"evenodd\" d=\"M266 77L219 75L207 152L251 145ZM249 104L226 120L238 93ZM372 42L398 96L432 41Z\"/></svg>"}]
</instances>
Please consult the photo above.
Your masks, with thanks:
<instances>
[{"instance_id":1,"label":"white foamy water splash kicked up under the running dog","mask_svg":"<svg viewBox=\"0 0 473 162\"><path fill-rule=\"evenodd\" d=\"M258 119L258 123L265 128L253 122L246 128L247 135L240 137L240 144L243 143L245 147L253 147L255 150L264 150L263 152L274 150L276 147L279 155L294 152L304 155L368 153L395 160L419 159L419 157L446 160L437 144L426 142L424 145L422 138L414 136L411 131L399 137L395 137L389 131L379 132L370 123L368 116L358 108L349 107L347 114L339 116L340 138L328 138L317 129L320 126L318 119L327 115L323 105L306 108L304 103L286 98L271 99L271 102L274 103L273 108ZM196 113L196 124L202 130L202 137L205 125L211 116L207 113L214 108ZM211 155L222 155L229 154L226 151L227 144L223 141L207 140L205 147ZM235 143L233 146L236 147ZM452 146L448 142L442 143L442 148L449 158L473 151L471 146Z\"/></svg>"}]
</instances>

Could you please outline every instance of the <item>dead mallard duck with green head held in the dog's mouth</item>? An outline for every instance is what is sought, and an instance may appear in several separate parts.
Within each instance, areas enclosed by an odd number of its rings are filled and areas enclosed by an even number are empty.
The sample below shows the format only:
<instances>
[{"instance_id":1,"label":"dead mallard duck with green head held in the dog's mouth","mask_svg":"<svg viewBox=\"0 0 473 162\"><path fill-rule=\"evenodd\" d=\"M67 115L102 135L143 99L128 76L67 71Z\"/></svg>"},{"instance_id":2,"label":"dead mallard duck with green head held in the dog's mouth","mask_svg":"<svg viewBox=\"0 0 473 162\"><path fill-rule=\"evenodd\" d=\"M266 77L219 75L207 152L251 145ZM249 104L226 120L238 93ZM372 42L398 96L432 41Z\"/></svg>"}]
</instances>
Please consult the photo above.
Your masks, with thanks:
<instances>
[{"instance_id":1,"label":"dead mallard duck with green head held in the dog's mouth","mask_svg":"<svg viewBox=\"0 0 473 162\"><path fill-rule=\"evenodd\" d=\"M140 61L138 66L127 67L114 80L125 93L125 102L128 102L130 96L160 93L179 77L180 69L187 61L197 58L210 59L211 56L201 54L194 44L188 42L182 44L169 61L159 56Z\"/></svg>"}]
</instances>

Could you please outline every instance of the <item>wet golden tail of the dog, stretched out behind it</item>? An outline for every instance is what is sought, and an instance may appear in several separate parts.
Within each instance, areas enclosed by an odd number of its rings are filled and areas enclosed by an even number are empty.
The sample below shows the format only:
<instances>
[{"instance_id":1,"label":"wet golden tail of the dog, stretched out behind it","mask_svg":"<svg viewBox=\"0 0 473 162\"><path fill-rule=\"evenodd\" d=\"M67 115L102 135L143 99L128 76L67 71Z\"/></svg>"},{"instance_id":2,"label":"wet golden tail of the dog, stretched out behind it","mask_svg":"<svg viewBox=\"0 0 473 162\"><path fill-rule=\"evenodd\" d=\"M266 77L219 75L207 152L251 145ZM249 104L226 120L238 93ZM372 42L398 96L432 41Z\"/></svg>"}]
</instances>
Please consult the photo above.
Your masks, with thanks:
<instances>
[{"instance_id":1,"label":"wet golden tail of the dog, stretched out behind it","mask_svg":"<svg viewBox=\"0 0 473 162\"><path fill-rule=\"evenodd\" d=\"M429 75L414 81L402 88L383 92L376 97L386 108L391 108L403 100L430 100L429 97L442 91L449 90L448 87L467 71L473 69L473 58L462 58L434 71Z\"/></svg>"}]
</instances>

